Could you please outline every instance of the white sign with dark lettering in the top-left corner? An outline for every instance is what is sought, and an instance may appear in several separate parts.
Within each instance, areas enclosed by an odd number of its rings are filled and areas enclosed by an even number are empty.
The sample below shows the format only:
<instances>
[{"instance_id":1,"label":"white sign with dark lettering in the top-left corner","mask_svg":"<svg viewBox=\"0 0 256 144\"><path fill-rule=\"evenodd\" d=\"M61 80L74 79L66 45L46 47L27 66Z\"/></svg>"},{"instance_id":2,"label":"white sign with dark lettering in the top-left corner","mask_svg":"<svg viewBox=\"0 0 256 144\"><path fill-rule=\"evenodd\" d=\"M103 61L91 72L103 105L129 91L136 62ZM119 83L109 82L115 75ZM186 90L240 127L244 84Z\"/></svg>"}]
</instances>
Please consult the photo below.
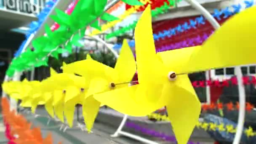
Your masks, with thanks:
<instances>
[{"instance_id":1,"label":"white sign with dark lettering in the top-left corner","mask_svg":"<svg viewBox=\"0 0 256 144\"><path fill-rule=\"evenodd\" d=\"M0 9L28 15L37 15L44 5L45 0L0 0Z\"/></svg>"}]
</instances>

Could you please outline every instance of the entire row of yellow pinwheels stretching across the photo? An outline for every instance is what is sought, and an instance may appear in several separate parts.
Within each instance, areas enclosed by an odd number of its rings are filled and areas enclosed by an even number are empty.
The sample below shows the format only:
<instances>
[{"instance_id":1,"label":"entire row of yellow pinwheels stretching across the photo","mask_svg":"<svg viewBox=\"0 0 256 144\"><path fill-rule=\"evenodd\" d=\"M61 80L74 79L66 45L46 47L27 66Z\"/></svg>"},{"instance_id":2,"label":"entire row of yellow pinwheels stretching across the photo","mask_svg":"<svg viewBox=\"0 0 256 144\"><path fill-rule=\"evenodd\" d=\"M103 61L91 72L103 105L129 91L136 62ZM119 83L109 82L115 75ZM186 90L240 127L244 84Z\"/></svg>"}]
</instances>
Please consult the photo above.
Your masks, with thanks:
<instances>
[{"instance_id":1,"label":"entire row of yellow pinwheels stretching across the photo","mask_svg":"<svg viewBox=\"0 0 256 144\"><path fill-rule=\"evenodd\" d=\"M186 144L201 108L188 74L256 63L256 27L251 27L256 25L256 20L251 19L254 14L255 6L233 16L201 46L156 53L149 5L135 29L136 62L124 41L115 68L88 57L64 64L64 73L51 70L51 77L42 82L5 83L3 88L33 111L38 104L45 104L51 116L55 112L63 120L64 110L70 126L75 104L83 104L88 131L103 104L131 116L145 116L166 106L178 143ZM129 86L136 69L139 84ZM23 84L15 87L14 83ZM15 93L18 90L22 92Z\"/></svg>"}]
</instances>

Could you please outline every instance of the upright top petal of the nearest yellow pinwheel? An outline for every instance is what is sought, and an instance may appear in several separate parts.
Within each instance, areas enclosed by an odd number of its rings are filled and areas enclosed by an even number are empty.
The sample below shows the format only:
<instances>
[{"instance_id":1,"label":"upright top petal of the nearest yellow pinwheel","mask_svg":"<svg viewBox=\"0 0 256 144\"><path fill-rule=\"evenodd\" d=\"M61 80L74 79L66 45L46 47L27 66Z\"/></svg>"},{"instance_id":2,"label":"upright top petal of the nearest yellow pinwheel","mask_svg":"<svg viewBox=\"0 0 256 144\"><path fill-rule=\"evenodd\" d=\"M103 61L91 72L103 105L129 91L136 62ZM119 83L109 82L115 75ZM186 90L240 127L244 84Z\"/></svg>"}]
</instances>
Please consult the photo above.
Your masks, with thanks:
<instances>
[{"instance_id":1,"label":"upright top petal of the nearest yellow pinwheel","mask_svg":"<svg viewBox=\"0 0 256 144\"><path fill-rule=\"evenodd\" d=\"M142 13L141 19L135 28L135 51L140 84L160 84L163 80L163 64L159 61L155 52L155 43L152 33L152 18L150 5ZM167 75L167 74L166 74Z\"/></svg>"}]
</instances>

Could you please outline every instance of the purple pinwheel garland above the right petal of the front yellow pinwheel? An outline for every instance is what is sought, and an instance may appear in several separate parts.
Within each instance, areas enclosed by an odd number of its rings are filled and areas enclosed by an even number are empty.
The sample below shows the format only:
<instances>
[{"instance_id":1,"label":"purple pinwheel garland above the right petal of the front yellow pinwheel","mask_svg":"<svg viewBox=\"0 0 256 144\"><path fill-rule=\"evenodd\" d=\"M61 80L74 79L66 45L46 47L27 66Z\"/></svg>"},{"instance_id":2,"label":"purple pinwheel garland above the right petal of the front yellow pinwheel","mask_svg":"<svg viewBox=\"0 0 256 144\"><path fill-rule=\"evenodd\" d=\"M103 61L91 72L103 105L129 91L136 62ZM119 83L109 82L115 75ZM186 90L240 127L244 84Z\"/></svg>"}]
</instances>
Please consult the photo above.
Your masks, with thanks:
<instances>
[{"instance_id":1,"label":"purple pinwheel garland above the right petal of the front yellow pinwheel","mask_svg":"<svg viewBox=\"0 0 256 144\"><path fill-rule=\"evenodd\" d=\"M203 34L202 36L198 35L197 37L189 38L187 40L183 40L178 43L174 43L171 45L165 45L160 48L157 48L157 52L162 52L162 51L170 51L174 49L180 49L180 48L187 48L187 47L192 47L195 45L202 45L202 43L207 40L207 38L213 33L213 31L210 34Z\"/></svg>"}]
</instances>

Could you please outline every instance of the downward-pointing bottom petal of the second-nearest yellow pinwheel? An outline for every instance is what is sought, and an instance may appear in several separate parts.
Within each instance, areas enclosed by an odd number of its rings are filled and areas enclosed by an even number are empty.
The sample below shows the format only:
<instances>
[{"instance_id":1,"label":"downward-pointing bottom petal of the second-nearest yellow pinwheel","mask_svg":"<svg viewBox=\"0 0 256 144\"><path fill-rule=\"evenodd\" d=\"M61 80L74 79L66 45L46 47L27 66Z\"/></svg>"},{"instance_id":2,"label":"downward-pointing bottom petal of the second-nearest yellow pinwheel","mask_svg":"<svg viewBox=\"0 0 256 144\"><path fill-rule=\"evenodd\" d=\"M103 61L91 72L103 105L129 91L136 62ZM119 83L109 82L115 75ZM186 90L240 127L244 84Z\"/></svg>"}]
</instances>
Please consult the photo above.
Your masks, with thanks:
<instances>
[{"instance_id":1,"label":"downward-pointing bottom petal of the second-nearest yellow pinwheel","mask_svg":"<svg viewBox=\"0 0 256 144\"><path fill-rule=\"evenodd\" d=\"M93 123L99 112L99 107L100 102L96 101L93 96L87 97L83 103L83 117L88 132L91 132L91 128L93 128Z\"/></svg>"}]
</instances>

